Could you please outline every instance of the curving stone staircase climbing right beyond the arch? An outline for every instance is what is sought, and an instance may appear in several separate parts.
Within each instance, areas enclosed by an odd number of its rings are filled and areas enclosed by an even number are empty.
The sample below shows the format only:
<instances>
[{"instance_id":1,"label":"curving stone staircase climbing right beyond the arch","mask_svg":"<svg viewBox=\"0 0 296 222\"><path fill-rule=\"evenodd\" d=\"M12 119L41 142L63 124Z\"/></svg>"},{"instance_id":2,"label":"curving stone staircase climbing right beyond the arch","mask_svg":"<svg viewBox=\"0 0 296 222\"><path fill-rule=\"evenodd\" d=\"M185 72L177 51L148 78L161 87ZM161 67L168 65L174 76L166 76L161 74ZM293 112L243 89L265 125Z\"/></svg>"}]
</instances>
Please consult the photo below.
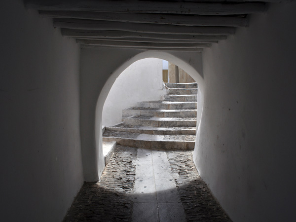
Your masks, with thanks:
<instances>
[{"instance_id":1,"label":"curving stone staircase climbing right beyond the arch","mask_svg":"<svg viewBox=\"0 0 296 222\"><path fill-rule=\"evenodd\" d=\"M163 101L140 102L122 111L122 121L106 127L104 144L148 149L194 149L197 83L165 83Z\"/></svg>"}]
</instances>

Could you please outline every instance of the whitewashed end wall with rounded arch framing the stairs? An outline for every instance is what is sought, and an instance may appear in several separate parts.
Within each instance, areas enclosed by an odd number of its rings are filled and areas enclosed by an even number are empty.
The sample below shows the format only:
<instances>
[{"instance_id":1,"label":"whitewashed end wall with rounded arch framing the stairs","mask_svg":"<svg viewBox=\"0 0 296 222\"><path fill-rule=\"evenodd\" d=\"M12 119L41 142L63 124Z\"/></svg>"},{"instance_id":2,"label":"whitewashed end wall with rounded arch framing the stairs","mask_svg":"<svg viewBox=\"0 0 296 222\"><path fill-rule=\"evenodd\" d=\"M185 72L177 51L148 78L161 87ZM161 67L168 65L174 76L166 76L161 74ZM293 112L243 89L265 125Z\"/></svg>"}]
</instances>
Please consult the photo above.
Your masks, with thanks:
<instances>
[{"instance_id":1,"label":"whitewashed end wall with rounded arch framing the stairs","mask_svg":"<svg viewBox=\"0 0 296 222\"><path fill-rule=\"evenodd\" d=\"M196 80L199 85L198 100L201 101L197 112L199 125L203 104L201 53L83 48L80 69L80 130L85 181L97 181L104 169L102 111L112 84L132 63L149 57L171 61Z\"/></svg>"}]
</instances>

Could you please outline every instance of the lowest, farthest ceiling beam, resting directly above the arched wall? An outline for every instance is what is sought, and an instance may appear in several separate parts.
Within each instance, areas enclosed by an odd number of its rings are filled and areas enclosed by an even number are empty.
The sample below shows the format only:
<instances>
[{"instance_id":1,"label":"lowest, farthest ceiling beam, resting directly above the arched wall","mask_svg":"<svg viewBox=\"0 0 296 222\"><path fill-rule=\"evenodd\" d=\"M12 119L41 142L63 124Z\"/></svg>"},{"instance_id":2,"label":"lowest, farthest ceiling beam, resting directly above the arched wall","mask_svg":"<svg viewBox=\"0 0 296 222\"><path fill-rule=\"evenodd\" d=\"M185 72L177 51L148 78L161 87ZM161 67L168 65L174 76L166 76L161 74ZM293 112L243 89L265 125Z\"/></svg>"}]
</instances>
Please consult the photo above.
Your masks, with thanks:
<instances>
[{"instance_id":1,"label":"lowest, farthest ceiling beam, resting directly above the arched wall","mask_svg":"<svg viewBox=\"0 0 296 222\"><path fill-rule=\"evenodd\" d=\"M141 50L141 51L163 51L163 52L174 52L174 51L181 51L181 52L202 52L202 48L145 48L145 47L121 47L121 46L100 46L100 45L84 45L80 44L81 48L107 48L107 49L133 49L133 50Z\"/></svg>"}]
</instances>

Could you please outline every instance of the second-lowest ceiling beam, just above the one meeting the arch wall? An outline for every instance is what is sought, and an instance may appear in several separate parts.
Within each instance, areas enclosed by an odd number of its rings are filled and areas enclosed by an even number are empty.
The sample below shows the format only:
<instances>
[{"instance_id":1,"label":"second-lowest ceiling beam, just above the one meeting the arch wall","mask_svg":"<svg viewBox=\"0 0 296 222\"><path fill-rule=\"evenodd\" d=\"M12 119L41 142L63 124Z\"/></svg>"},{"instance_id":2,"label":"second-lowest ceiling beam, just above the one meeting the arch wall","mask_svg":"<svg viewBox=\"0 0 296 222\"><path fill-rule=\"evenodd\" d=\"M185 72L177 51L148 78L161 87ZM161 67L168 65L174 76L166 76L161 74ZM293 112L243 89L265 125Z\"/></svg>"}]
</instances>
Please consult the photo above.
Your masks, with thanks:
<instances>
[{"instance_id":1,"label":"second-lowest ceiling beam, just above the one meeting the arch wall","mask_svg":"<svg viewBox=\"0 0 296 222\"><path fill-rule=\"evenodd\" d=\"M152 42L125 42L107 40L76 39L77 43L101 46L121 46L121 47L145 47L145 48L208 48L209 43L152 43Z\"/></svg>"}]
</instances>

